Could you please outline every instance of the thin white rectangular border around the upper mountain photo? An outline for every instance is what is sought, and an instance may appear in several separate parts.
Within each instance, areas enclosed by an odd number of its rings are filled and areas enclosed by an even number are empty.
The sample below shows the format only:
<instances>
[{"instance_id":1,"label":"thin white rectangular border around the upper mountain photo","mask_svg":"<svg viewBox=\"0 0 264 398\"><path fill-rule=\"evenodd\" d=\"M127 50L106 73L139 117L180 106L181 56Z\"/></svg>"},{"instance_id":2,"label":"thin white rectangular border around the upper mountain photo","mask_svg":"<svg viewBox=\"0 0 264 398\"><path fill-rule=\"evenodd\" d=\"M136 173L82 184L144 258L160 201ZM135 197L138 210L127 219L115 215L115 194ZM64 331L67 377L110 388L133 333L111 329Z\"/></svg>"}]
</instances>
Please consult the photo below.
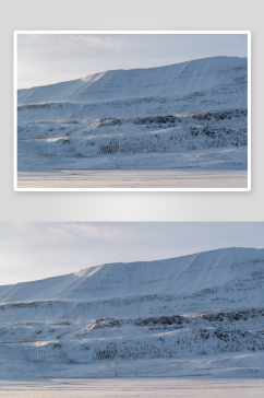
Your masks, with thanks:
<instances>
[{"instance_id":1,"label":"thin white rectangular border around the upper mountain photo","mask_svg":"<svg viewBox=\"0 0 264 398\"><path fill-rule=\"evenodd\" d=\"M248 188L17 188L17 35L22 34L247 34L248 35ZM250 31L15 31L13 40L13 178L15 191L250 191L251 190L251 32Z\"/></svg>"}]
</instances>

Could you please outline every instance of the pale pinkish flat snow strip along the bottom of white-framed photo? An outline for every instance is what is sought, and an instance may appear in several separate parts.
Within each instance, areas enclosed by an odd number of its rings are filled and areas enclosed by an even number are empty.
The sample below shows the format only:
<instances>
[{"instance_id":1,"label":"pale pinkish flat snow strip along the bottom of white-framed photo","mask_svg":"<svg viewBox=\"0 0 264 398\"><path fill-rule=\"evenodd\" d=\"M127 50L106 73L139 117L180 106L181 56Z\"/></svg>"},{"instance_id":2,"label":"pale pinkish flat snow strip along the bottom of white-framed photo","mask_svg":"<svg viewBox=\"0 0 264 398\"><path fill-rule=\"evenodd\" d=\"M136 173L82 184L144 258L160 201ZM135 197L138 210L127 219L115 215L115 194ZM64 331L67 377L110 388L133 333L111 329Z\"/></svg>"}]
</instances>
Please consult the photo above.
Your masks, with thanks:
<instances>
[{"instance_id":1,"label":"pale pinkish flat snow strip along the bottom of white-framed photo","mask_svg":"<svg viewBox=\"0 0 264 398\"><path fill-rule=\"evenodd\" d=\"M248 188L247 171L55 171L19 174L17 188Z\"/></svg>"}]
</instances>

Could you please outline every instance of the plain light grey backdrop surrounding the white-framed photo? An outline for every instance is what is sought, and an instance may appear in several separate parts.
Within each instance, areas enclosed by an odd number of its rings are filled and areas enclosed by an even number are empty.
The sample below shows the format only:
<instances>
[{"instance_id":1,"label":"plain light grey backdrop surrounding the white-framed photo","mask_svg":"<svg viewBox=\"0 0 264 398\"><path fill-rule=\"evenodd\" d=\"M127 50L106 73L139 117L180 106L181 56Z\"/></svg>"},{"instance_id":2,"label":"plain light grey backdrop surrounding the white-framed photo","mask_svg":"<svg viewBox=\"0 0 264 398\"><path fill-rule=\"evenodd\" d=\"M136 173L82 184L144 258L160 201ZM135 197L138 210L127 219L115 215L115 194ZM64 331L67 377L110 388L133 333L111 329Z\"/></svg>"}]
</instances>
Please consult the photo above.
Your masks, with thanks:
<instances>
[{"instance_id":1,"label":"plain light grey backdrop surrounding the white-framed photo","mask_svg":"<svg viewBox=\"0 0 264 398\"><path fill-rule=\"evenodd\" d=\"M260 1L9 0L1 20L0 221L264 221L263 65ZM14 192L14 31L251 31L251 192Z\"/></svg>"}]
</instances>

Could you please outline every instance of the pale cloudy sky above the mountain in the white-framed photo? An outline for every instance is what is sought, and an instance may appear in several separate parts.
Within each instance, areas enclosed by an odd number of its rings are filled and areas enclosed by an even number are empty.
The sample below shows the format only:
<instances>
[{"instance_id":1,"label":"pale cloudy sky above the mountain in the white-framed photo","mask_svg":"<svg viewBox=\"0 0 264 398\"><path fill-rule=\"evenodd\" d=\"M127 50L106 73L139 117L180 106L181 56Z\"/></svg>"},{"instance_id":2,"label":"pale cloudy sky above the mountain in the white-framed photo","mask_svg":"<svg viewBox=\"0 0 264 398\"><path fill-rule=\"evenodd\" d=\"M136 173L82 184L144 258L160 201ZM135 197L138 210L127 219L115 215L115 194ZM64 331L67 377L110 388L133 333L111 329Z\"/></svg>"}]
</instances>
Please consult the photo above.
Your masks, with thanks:
<instances>
[{"instance_id":1,"label":"pale cloudy sky above the mountain in the white-framed photo","mask_svg":"<svg viewBox=\"0 0 264 398\"><path fill-rule=\"evenodd\" d=\"M160 67L214 56L247 57L247 40L244 34L20 34L17 87L106 70Z\"/></svg>"}]
</instances>

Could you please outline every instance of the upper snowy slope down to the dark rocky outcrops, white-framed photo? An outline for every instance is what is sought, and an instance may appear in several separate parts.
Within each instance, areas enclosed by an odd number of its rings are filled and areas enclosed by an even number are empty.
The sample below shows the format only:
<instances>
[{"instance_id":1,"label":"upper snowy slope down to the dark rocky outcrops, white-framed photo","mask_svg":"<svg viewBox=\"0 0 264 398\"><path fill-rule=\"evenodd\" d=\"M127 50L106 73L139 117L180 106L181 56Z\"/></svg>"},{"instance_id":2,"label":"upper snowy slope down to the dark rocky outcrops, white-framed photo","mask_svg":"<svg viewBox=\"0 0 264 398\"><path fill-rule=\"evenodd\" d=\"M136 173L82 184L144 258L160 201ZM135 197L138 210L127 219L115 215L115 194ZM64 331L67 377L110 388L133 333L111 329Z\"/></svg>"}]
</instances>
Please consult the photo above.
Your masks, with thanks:
<instances>
[{"instance_id":1,"label":"upper snowy slope down to the dark rocky outcrops, white-framed photo","mask_svg":"<svg viewBox=\"0 0 264 398\"><path fill-rule=\"evenodd\" d=\"M25 121L29 117L28 110L34 120L40 118L41 113L43 120L73 115L80 119L136 117L157 114L159 107L164 115L164 104L165 115L226 108L227 105L247 108L247 84L248 59L237 57L113 70L70 82L19 90L19 117Z\"/></svg>"}]
</instances>

